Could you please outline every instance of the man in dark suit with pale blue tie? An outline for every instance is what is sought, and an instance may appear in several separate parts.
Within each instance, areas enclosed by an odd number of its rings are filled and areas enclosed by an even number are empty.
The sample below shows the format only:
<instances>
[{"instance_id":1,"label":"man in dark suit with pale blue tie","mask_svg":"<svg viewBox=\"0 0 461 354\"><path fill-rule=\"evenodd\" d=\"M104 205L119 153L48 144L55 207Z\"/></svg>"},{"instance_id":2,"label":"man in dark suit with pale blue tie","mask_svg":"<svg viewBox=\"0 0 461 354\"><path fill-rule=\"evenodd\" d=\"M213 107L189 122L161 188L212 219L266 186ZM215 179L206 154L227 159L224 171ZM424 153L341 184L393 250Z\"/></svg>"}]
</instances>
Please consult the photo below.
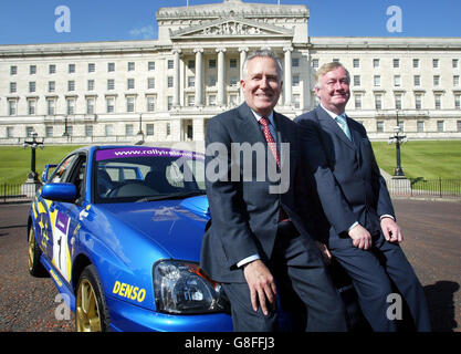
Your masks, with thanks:
<instances>
[{"instance_id":1,"label":"man in dark suit with pale blue tie","mask_svg":"<svg viewBox=\"0 0 461 354\"><path fill-rule=\"evenodd\" d=\"M363 125L345 115L350 96L347 70L340 63L323 65L315 93L319 105L295 122L329 229L322 241L353 279L375 331L396 330L401 310L396 290L416 329L430 331L423 290L400 249L402 233L370 142Z\"/></svg>"}]
</instances>

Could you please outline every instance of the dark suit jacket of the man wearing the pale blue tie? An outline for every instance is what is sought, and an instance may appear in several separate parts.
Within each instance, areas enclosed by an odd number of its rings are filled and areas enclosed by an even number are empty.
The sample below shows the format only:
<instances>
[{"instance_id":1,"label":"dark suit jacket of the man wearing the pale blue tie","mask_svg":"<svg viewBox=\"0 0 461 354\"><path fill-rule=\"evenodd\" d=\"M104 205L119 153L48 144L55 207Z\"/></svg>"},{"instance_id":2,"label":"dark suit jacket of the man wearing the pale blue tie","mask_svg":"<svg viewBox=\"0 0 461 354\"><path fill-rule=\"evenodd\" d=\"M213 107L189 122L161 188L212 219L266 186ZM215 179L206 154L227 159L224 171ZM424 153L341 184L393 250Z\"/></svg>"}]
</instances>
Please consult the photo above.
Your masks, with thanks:
<instances>
[{"instance_id":1,"label":"dark suit jacket of the man wearing the pale blue tie","mask_svg":"<svg viewBox=\"0 0 461 354\"><path fill-rule=\"evenodd\" d=\"M395 218L395 212L364 126L347 117L350 142L321 106L294 122L327 219L329 239L324 241L331 248L350 246L347 231L355 221L371 235L379 233L379 217Z\"/></svg>"}]
</instances>

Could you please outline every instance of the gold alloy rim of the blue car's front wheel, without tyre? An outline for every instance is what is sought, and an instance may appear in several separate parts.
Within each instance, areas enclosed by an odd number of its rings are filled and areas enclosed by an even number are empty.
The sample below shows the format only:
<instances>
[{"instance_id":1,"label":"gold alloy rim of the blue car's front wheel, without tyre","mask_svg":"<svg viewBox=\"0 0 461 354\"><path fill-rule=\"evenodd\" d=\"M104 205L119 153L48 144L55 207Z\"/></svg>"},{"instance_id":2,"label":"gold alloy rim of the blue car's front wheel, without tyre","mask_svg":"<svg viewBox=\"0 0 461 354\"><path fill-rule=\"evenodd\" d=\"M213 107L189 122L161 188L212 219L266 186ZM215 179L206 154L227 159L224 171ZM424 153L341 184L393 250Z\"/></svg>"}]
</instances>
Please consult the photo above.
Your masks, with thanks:
<instances>
[{"instance_id":1,"label":"gold alloy rim of the blue car's front wheel, without tyre","mask_svg":"<svg viewBox=\"0 0 461 354\"><path fill-rule=\"evenodd\" d=\"M76 330L78 332L102 331L96 294L87 279L80 282L75 310Z\"/></svg>"}]
</instances>

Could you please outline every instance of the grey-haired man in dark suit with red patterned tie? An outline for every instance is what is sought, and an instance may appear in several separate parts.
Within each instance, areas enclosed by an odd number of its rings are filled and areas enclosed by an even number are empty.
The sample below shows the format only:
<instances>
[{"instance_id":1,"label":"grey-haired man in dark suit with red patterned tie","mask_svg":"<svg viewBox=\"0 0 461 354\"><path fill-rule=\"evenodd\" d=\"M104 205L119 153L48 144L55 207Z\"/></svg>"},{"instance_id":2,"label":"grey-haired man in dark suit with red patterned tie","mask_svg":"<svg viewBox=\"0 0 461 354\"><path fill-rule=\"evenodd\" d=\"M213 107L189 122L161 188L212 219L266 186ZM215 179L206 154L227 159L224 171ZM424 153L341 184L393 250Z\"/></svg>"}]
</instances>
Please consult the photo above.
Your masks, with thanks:
<instances>
[{"instance_id":1,"label":"grey-haired man in dark suit with red patterned tie","mask_svg":"<svg viewBox=\"0 0 461 354\"><path fill-rule=\"evenodd\" d=\"M344 331L344 305L310 235L314 225L305 180L298 178L297 127L273 111L282 65L272 51L256 51L247 58L243 75L245 103L207 126L211 226L201 267L221 282L234 331L275 331L277 294L282 308L301 300L292 310L303 314L296 322L303 330Z\"/></svg>"}]
</instances>

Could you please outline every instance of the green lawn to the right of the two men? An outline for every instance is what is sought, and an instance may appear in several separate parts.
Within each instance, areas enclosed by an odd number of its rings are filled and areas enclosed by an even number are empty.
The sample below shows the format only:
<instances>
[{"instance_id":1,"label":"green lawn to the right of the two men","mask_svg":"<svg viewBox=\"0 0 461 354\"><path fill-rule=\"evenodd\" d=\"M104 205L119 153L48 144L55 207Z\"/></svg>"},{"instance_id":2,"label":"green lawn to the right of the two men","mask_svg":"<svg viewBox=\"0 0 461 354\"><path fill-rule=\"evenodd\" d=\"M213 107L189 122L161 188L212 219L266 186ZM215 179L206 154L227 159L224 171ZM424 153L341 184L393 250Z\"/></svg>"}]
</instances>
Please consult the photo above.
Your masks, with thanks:
<instances>
[{"instance_id":1,"label":"green lawn to the right of the two men","mask_svg":"<svg viewBox=\"0 0 461 354\"><path fill-rule=\"evenodd\" d=\"M380 168L394 175L396 146L374 142ZM401 167L408 178L461 179L461 140L409 140L401 145Z\"/></svg>"}]
</instances>

